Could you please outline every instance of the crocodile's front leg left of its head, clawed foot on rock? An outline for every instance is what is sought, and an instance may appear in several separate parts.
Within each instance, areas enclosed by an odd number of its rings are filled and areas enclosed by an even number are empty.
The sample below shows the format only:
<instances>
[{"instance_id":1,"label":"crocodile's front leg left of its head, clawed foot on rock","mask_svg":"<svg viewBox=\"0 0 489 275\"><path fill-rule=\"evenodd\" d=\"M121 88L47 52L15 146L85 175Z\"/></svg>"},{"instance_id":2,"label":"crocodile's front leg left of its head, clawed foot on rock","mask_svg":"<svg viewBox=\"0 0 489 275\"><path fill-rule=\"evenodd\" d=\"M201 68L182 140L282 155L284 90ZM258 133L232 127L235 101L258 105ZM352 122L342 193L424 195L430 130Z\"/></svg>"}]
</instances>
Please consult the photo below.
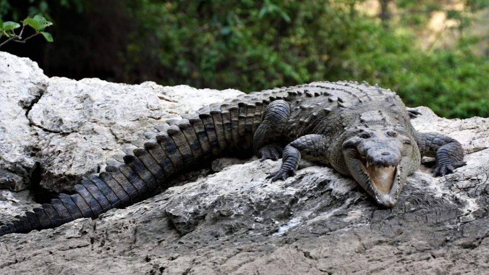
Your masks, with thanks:
<instances>
[{"instance_id":1,"label":"crocodile's front leg left of its head, clawed foot on rock","mask_svg":"<svg viewBox=\"0 0 489 275\"><path fill-rule=\"evenodd\" d=\"M285 180L295 175L299 160L302 158L328 163L328 144L326 137L321 134L307 134L289 143L284 148L282 166L279 171L271 173L266 178L271 181Z\"/></svg>"}]
</instances>

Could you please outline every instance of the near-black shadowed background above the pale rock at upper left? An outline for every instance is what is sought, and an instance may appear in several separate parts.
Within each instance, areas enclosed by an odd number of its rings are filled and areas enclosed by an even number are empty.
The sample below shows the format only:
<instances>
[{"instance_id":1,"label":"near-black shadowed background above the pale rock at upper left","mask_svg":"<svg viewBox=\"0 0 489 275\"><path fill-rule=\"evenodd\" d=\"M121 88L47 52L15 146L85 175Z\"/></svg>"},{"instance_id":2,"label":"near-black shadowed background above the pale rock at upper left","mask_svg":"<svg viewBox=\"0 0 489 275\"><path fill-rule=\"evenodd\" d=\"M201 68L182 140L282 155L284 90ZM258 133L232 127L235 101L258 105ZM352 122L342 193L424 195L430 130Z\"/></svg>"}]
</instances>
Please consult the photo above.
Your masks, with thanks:
<instances>
[{"instance_id":1,"label":"near-black shadowed background above the pale rock at upper left","mask_svg":"<svg viewBox=\"0 0 489 275\"><path fill-rule=\"evenodd\" d=\"M50 3L56 1L50 1ZM20 14L29 14L28 1L15 1L12 5ZM55 22L46 31L55 38L46 43L37 36L25 44L9 43L2 50L36 61L48 76L66 76L74 79L98 77L123 82L120 78L120 54L128 44L128 35L135 25L126 24L130 16L123 1L104 0L87 2L83 12L52 3L49 15ZM7 17L7 16L6 16ZM22 17L21 17L22 18ZM11 20L6 18L4 21ZM122 27L122 28L121 28ZM26 35L34 33L26 29ZM134 82L146 79L135 79Z\"/></svg>"}]
</instances>

